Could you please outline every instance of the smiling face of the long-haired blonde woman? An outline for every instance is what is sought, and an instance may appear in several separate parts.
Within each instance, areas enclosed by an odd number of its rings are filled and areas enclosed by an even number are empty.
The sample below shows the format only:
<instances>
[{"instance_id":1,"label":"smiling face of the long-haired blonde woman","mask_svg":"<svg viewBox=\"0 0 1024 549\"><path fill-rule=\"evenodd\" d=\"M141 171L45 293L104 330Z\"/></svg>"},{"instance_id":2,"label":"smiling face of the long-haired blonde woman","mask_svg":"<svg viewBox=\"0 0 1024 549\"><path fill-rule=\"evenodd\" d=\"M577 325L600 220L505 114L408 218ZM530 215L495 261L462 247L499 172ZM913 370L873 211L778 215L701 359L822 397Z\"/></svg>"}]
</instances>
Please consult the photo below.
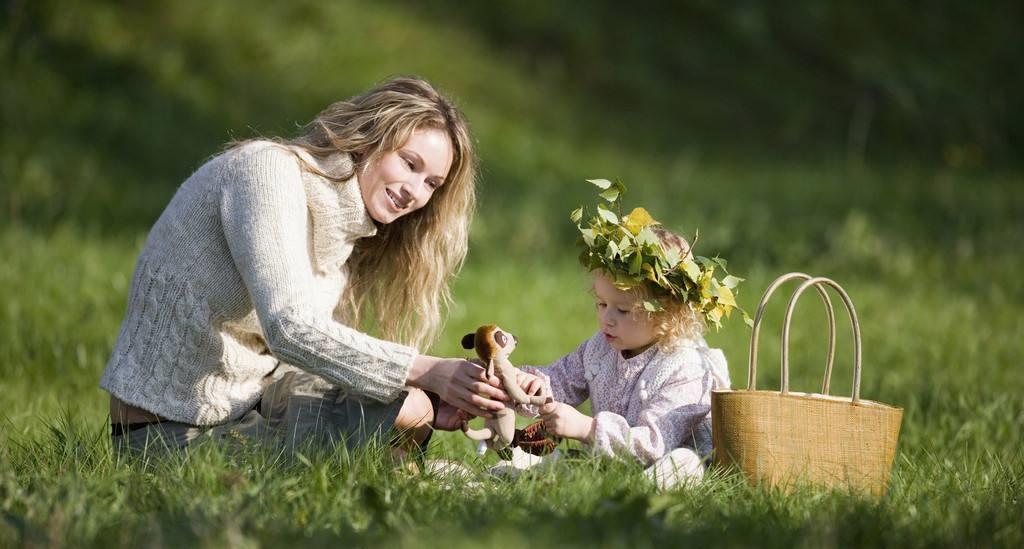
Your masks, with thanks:
<instances>
[{"instance_id":1,"label":"smiling face of the long-haired blonde woman","mask_svg":"<svg viewBox=\"0 0 1024 549\"><path fill-rule=\"evenodd\" d=\"M406 144L368 164L359 191L370 217L390 223L427 205L452 168L452 140L441 130L413 132Z\"/></svg>"}]
</instances>

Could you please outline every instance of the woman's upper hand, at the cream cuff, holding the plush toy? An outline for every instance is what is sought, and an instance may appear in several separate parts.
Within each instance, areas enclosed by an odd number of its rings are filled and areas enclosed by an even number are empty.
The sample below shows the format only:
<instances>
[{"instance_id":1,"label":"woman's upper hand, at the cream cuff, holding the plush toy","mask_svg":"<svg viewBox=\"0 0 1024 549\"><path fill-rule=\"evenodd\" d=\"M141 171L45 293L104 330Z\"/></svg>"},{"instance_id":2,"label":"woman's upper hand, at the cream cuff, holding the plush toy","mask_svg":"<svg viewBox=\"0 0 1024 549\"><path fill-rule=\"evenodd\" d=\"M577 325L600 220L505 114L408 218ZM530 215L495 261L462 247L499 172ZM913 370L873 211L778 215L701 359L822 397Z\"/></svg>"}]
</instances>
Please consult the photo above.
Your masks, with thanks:
<instances>
[{"instance_id":1,"label":"woman's upper hand, at the cream cuff, holding the plush toy","mask_svg":"<svg viewBox=\"0 0 1024 549\"><path fill-rule=\"evenodd\" d=\"M436 392L441 400L473 416L492 417L508 400L498 377L487 379L483 368L462 358L421 354L413 361L406 383Z\"/></svg>"}]
</instances>

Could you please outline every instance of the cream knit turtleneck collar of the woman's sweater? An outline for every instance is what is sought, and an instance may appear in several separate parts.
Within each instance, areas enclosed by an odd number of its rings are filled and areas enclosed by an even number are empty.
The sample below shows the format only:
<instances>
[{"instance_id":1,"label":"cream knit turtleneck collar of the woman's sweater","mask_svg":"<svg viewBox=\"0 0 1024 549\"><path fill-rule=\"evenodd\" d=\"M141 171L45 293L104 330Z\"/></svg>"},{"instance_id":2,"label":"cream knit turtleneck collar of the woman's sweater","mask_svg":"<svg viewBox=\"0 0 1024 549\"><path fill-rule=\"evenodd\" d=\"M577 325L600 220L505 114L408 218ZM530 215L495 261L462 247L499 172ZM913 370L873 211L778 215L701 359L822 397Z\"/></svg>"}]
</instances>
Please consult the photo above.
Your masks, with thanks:
<instances>
[{"instance_id":1,"label":"cream knit turtleneck collar of the woman's sweater","mask_svg":"<svg viewBox=\"0 0 1024 549\"><path fill-rule=\"evenodd\" d=\"M329 175L352 170L352 159L345 153L323 159L316 159L305 151L300 151L299 155L309 165ZM376 235L377 225L362 202L359 180L355 175L344 181L333 181L306 171L302 178L312 222L313 256L317 269L325 271L344 263L351 252L347 244Z\"/></svg>"}]
</instances>

